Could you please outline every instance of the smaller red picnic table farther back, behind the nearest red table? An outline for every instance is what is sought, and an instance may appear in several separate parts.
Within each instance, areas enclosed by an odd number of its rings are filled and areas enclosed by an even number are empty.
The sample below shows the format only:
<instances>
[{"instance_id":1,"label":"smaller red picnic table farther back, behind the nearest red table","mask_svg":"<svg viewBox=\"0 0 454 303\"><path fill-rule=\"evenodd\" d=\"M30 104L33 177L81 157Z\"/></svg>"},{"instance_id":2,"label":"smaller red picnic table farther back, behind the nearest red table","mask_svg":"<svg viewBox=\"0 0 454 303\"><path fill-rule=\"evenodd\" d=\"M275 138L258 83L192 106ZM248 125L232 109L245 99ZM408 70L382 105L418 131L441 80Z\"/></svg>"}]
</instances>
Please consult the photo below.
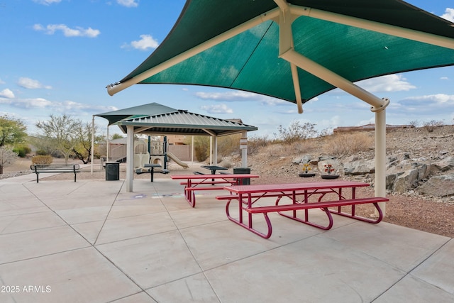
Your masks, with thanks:
<instances>
[{"instance_id":1,"label":"smaller red picnic table farther back, behind the nearest red table","mask_svg":"<svg viewBox=\"0 0 454 303\"><path fill-rule=\"evenodd\" d=\"M173 180L186 180L180 182L184 185L184 197L189 205L196 206L196 191L223 190L226 184L243 184L243 179L258 178L258 175L230 174L230 175L172 175ZM205 186L209 185L209 186ZM221 186L216 186L221 185Z\"/></svg>"}]
</instances>

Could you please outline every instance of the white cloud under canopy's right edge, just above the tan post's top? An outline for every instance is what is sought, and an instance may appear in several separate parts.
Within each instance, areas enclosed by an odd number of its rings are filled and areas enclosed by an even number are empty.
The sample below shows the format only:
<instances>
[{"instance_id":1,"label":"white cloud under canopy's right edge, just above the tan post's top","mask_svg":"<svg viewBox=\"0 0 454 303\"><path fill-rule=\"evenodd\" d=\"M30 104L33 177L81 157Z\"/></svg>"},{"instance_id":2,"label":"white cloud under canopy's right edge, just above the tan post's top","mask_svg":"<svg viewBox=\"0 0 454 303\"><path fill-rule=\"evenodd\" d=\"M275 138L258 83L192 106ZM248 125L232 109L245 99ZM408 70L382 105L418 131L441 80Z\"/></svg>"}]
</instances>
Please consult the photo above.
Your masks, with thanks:
<instances>
[{"instance_id":1,"label":"white cloud under canopy's right edge, just above the tan post's top","mask_svg":"<svg viewBox=\"0 0 454 303\"><path fill-rule=\"evenodd\" d=\"M395 74L362 80L356 84L368 92L400 92L416 89L402 75Z\"/></svg>"}]
</instances>

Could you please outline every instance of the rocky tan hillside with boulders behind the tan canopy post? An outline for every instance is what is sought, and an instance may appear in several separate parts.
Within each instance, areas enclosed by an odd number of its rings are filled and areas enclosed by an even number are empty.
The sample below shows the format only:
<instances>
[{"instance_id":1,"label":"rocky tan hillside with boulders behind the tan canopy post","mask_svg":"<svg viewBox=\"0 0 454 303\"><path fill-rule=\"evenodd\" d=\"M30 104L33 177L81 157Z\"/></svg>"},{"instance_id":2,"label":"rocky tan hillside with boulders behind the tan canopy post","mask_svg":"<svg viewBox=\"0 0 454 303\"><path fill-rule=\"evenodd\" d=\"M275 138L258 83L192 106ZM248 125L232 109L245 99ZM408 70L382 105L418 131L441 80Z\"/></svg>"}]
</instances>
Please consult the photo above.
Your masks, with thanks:
<instances>
[{"instance_id":1,"label":"rocky tan hillside with boulders behind the tan canopy post","mask_svg":"<svg viewBox=\"0 0 454 303\"><path fill-rule=\"evenodd\" d=\"M373 137L373 132L368 133ZM344 179L374 179L373 141L368 150L350 155L328 155L323 145L329 137L308 142L309 151L301 153L289 145L268 145L248 156L248 166L258 175L295 182L302 163L309 162L320 173L323 165L333 165ZM240 158L231 160L240 166ZM432 129L399 128L387 131L387 190L399 194L423 194L454 201L454 126Z\"/></svg>"}]
</instances>

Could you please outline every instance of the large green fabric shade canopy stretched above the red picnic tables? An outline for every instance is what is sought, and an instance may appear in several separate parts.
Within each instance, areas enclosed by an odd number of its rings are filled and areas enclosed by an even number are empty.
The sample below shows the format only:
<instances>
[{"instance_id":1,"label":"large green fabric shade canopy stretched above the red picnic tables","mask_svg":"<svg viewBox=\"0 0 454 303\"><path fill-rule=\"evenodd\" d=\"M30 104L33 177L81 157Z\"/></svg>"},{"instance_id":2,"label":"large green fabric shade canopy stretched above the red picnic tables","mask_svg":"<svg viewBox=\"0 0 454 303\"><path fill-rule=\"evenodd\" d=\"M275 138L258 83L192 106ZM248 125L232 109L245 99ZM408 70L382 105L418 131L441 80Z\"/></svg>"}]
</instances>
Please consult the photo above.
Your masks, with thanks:
<instances>
[{"instance_id":1,"label":"large green fabric shade canopy stretched above the red picnic tables","mask_svg":"<svg viewBox=\"0 0 454 303\"><path fill-rule=\"evenodd\" d=\"M159 48L107 88L197 84L301 104L344 79L448 65L454 23L404 1L188 0Z\"/></svg>"}]
</instances>

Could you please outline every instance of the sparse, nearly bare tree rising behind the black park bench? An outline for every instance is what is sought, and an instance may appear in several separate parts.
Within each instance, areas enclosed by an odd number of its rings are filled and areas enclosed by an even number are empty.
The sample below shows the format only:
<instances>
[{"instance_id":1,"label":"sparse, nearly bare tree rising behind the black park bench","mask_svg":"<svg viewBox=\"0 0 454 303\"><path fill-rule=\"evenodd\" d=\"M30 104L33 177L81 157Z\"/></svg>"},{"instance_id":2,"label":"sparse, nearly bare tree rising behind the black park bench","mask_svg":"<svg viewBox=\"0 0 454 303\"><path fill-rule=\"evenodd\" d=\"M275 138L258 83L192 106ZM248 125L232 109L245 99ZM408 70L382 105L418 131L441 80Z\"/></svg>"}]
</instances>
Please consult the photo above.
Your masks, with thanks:
<instances>
[{"instance_id":1,"label":"sparse, nearly bare tree rising behind the black park bench","mask_svg":"<svg viewBox=\"0 0 454 303\"><path fill-rule=\"evenodd\" d=\"M49 121L38 121L36 127L42 133L40 138L47 141L54 150L58 150L65 157L65 163L77 145L77 128L80 121L71 116L50 115Z\"/></svg>"}]
</instances>

